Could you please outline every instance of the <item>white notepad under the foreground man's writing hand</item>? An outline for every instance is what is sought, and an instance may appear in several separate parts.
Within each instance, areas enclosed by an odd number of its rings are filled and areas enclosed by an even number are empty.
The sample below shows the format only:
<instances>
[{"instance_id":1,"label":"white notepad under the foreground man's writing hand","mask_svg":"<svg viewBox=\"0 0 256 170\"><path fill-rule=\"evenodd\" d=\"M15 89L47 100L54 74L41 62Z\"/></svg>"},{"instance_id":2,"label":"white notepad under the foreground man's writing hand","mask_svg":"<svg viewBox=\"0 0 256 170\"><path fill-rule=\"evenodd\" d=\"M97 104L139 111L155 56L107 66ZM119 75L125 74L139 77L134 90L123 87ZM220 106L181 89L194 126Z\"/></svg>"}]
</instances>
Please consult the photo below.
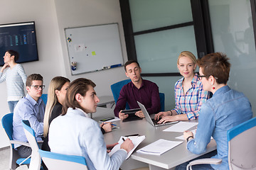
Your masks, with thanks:
<instances>
[{"instance_id":1,"label":"white notepad under the foreground man's writing hand","mask_svg":"<svg viewBox=\"0 0 256 170\"><path fill-rule=\"evenodd\" d=\"M118 144L115 145L113 147L113 149L111 150L111 152L109 153L110 157L112 156L112 154L114 154L114 152L117 152L118 149L120 149L120 146L122 145L122 143L124 142L122 140L122 138L124 138L124 140L127 139L127 137L123 137L121 136L119 141L118 141ZM145 136L134 136L134 137L129 137L130 140L132 140L132 143L134 144L134 148L128 153L127 155L127 158L129 158L129 156L131 156L132 152L134 152L134 149L136 149L138 147L138 145L145 139L146 137Z\"/></svg>"}]
</instances>

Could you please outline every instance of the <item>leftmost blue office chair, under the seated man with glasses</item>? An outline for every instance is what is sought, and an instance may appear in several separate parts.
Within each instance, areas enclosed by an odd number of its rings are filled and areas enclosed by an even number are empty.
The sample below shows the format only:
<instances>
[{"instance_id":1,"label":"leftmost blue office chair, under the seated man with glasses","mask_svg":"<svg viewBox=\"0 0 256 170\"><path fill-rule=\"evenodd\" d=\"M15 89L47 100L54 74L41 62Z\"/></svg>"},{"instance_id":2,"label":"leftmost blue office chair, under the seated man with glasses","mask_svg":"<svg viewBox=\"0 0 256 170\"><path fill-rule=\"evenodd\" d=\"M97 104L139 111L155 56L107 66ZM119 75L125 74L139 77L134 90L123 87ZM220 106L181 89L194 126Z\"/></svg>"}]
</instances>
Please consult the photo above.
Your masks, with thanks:
<instances>
[{"instance_id":1,"label":"leftmost blue office chair, under the seated man with glasses","mask_svg":"<svg viewBox=\"0 0 256 170\"><path fill-rule=\"evenodd\" d=\"M9 137L10 142L10 162L9 162L9 169L16 169L18 166L26 164L27 166L30 164L30 157L22 158L19 156L18 152L14 149L14 144L24 145L26 147L30 147L28 142L21 142L18 140L14 140L12 137L13 134L13 118L14 113L9 113L4 115L1 120L2 126L6 132L6 135Z\"/></svg>"}]
</instances>

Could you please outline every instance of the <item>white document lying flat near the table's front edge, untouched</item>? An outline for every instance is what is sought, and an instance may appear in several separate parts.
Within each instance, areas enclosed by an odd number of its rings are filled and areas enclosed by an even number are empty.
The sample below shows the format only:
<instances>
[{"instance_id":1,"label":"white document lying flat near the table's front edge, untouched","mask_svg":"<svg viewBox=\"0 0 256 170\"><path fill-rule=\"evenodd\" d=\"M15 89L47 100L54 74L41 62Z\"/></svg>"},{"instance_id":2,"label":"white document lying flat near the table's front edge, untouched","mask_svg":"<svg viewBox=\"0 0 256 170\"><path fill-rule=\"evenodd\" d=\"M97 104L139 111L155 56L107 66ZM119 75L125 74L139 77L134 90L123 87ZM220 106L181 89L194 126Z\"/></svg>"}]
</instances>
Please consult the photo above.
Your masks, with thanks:
<instances>
[{"instance_id":1,"label":"white document lying flat near the table's front edge, untouched","mask_svg":"<svg viewBox=\"0 0 256 170\"><path fill-rule=\"evenodd\" d=\"M142 147L142 149L137 150L137 152L142 154L161 155L164 154L164 152L169 151L169 149L180 145L182 142L183 141L170 141L160 139L156 140L156 142L146 145L146 147Z\"/></svg>"}]
</instances>

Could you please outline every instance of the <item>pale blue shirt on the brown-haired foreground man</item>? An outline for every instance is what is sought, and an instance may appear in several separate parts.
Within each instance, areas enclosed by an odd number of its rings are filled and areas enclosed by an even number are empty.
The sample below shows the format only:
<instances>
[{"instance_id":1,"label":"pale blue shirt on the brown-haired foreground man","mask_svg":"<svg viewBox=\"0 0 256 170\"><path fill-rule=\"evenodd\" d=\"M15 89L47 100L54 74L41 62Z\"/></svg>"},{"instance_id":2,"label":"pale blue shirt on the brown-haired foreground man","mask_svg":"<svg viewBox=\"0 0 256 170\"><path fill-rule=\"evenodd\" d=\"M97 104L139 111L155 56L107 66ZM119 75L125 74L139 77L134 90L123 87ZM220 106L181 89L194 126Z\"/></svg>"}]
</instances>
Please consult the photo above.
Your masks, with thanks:
<instances>
[{"instance_id":1,"label":"pale blue shirt on the brown-haired foreground man","mask_svg":"<svg viewBox=\"0 0 256 170\"><path fill-rule=\"evenodd\" d=\"M119 149L110 157L100 126L80 108L68 108L53 119L49 128L51 152L85 157L88 169L119 169L127 152Z\"/></svg>"}]
</instances>

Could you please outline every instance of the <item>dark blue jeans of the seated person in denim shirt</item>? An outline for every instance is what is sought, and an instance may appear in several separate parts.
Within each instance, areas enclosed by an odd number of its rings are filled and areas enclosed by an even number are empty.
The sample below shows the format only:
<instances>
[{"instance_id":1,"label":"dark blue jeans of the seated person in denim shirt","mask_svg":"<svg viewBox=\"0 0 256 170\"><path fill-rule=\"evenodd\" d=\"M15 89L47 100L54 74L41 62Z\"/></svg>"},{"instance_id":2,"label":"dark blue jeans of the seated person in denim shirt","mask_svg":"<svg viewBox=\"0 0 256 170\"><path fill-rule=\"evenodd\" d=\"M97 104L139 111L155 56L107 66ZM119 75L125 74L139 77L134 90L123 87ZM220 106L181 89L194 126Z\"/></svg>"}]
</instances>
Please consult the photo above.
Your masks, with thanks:
<instances>
[{"instance_id":1,"label":"dark blue jeans of the seated person in denim shirt","mask_svg":"<svg viewBox=\"0 0 256 170\"><path fill-rule=\"evenodd\" d=\"M203 154L201 157L197 157L196 159L203 159L203 158L210 158L210 157L213 157L217 154L217 150L214 150L212 152L209 152L208 154ZM192 162L193 160L196 160L196 159L192 159L191 161L189 162ZM180 164L178 166L176 166L176 169L175 170L186 170L186 166L189 164L189 162L184 162L183 164ZM210 164L198 164L198 165L193 165L192 166L192 169L193 170L209 170L209 169L213 169L212 166L210 166Z\"/></svg>"}]
</instances>

